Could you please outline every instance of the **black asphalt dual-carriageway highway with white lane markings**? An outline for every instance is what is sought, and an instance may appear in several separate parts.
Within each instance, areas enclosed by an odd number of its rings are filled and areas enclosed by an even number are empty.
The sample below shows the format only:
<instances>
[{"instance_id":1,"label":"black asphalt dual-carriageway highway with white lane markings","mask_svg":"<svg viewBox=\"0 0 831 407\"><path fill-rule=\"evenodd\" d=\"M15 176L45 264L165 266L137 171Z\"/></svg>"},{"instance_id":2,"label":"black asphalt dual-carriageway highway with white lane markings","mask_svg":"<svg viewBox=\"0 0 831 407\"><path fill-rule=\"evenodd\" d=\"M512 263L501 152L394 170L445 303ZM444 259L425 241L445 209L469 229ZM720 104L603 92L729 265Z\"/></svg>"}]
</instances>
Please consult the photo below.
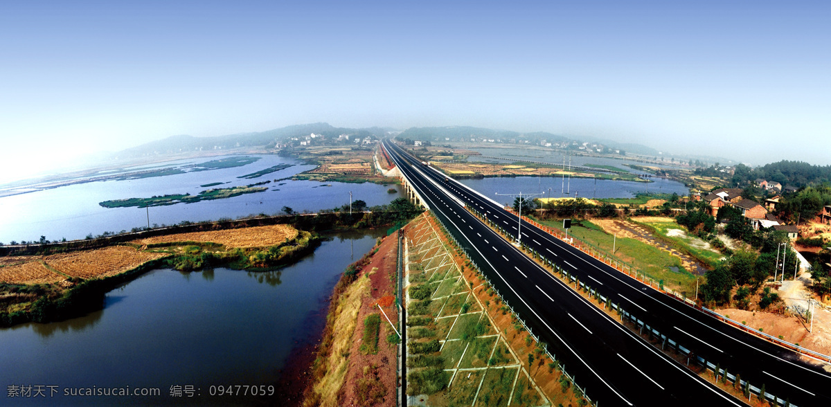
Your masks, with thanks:
<instances>
[{"instance_id":1,"label":"black asphalt dual-carriageway highway with white lane markings","mask_svg":"<svg viewBox=\"0 0 831 407\"><path fill-rule=\"evenodd\" d=\"M470 214L516 233L517 217L389 140L386 150L435 216L569 374L602 405L742 405L633 334ZM529 223L522 242L694 355L794 405L831 405L831 374L656 292ZM573 286L573 284L572 284ZM755 398L755 396L754 396Z\"/></svg>"}]
</instances>

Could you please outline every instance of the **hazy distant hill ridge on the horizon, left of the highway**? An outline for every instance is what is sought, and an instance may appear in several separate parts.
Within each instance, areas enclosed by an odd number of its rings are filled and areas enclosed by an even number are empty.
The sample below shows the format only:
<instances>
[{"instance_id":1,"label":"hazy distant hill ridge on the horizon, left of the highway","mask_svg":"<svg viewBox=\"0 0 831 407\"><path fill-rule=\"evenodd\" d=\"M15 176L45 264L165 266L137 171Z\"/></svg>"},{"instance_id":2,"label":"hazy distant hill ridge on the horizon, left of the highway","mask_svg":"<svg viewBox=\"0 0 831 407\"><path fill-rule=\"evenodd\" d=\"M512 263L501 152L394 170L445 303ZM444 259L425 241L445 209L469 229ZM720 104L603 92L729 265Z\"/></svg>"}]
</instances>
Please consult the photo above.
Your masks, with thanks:
<instances>
[{"instance_id":1,"label":"hazy distant hill ridge on the horizon, left of the highway","mask_svg":"<svg viewBox=\"0 0 831 407\"><path fill-rule=\"evenodd\" d=\"M234 147L257 147L275 145L291 137L310 135L326 135L337 137L338 135L357 135L366 137L375 135L383 137L387 130L380 127L367 129L350 129L346 127L333 127L328 123L312 123L308 125L290 125L280 129L266 130L253 133L238 133L235 135L219 135L214 137L194 137L192 135L172 135L166 139L151 141L127 150L120 151L117 155L120 158L140 157L156 154L173 154L192 150L214 150L229 149Z\"/></svg>"}]
</instances>

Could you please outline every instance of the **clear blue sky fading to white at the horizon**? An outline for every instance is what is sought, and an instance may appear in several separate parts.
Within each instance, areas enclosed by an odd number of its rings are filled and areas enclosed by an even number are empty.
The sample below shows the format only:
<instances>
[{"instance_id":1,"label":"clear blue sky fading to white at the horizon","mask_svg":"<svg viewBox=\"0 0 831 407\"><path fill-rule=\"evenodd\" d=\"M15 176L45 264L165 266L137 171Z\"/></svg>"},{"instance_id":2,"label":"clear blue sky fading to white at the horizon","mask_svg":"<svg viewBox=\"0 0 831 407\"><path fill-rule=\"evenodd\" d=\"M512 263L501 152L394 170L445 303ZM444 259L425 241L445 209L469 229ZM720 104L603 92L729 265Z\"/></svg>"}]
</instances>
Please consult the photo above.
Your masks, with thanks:
<instances>
[{"instance_id":1,"label":"clear blue sky fading to white at the horizon","mask_svg":"<svg viewBox=\"0 0 831 407\"><path fill-rule=\"evenodd\" d=\"M2 2L0 181L315 121L831 164L828 4Z\"/></svg>"}]
</instances>

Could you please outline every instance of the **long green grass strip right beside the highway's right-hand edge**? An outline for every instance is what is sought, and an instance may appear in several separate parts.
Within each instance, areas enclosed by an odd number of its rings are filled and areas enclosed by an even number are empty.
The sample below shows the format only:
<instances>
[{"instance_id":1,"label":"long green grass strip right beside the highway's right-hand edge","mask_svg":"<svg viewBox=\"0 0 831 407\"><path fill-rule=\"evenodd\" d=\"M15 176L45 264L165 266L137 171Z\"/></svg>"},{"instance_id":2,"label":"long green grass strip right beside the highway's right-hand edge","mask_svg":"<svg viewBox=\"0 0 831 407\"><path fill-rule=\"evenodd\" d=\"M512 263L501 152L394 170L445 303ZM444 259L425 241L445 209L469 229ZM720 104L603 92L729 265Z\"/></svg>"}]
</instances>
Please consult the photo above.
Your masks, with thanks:
<instances>
[{"instance_id":1,"label":"long green grass strip right beside the highway's right-hand edge","mask_svg":"<svg viewBox=\"0 0 831 407\"><path fill-rule=\"evenodd\" d=\"M563 230L563 222L559 220L545 220L541 223ZM612 253L614 244L615 257L631 265L633 269L652 277L655 281L663 280L666 287L671 287L678 292L686 292L688 296L695 292L696 277L686 270L672 272L669 269L669 267L678 267L679 270L683 270L681 259L678 257L637 239L617 238L615 243L615 238L603 232L596 224L586 220L583 220L581 224L582 226L572 223L569 236L591 244L606 253Z\"/></svg>"}]
</instances>

